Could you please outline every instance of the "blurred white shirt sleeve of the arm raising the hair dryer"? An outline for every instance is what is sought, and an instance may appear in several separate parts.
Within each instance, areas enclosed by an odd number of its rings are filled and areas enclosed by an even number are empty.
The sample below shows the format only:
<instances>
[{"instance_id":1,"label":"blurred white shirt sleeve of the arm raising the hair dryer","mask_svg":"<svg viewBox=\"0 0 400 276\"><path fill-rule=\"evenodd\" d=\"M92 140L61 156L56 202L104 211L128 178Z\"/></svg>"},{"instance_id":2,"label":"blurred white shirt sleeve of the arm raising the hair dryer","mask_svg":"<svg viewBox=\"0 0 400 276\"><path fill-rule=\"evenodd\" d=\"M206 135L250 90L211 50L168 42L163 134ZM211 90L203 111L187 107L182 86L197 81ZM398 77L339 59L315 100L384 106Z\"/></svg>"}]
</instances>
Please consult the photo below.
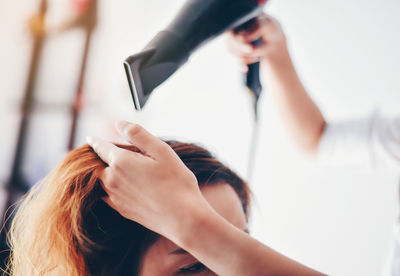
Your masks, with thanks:
<instances>
[{"instance_id":1,"label":"blurred white shirt sleeve of the arm raising the hair dryer","mask_svg":"<svg viewBox=\"0 0 400 276\"><path fill-rule=\"evenodd\" d=\"M400 117L385 118L376 112L363 119L328 123L318 159L331 165L400 169Z\"/></svg>"}]
</instances>

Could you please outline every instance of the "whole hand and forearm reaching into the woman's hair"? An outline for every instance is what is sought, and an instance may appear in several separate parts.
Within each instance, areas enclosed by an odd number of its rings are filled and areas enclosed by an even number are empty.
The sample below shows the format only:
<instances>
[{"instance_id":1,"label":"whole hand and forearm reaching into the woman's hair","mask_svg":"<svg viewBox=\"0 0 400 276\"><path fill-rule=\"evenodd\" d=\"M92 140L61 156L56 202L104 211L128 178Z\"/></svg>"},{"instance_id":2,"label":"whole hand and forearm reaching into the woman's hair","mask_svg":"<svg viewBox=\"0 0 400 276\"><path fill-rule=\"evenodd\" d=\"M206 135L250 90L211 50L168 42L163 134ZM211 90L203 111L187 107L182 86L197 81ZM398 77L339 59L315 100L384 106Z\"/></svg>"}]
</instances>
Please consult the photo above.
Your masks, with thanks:
<instances>
[{"instance_id":1,"label":"whole hand and forearm reaching into the woman's hair","mask_svg":"<svg viewBox=\"0 0 400 276\"><path fill-rule=\"evenodd\" d=\"M322 275L218 215L167 144L139 125L119 122L117 128L142 154L97 138L88 143L108 164L100 176L108 194L105 201L122 216L172 240L218 275Z\"/></svg>"}]
</instances>

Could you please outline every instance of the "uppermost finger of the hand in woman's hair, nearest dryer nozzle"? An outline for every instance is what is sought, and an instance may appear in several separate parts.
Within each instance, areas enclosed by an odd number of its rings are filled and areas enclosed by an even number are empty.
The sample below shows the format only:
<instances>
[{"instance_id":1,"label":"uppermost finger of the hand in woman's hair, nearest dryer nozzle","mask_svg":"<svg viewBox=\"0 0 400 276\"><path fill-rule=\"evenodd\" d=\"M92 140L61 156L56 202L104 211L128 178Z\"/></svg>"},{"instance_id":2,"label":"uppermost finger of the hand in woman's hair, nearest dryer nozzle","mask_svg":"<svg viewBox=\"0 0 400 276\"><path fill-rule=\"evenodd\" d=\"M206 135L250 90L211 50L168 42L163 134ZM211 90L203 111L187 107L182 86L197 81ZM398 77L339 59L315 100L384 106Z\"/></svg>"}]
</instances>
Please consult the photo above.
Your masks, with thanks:
<instances>
[{"instance_id":1,"label":"uppermost finger of the hand in woman's hair, nearest dryer nozzle","mask_svg":"<svg viewBox=\"0 0 400 276\"><path fill-rule=\"evenodd\" d=\"M168 158L174 153L165 142L138 124L117 121L116 128L129 143L137 146L145 155L153 159Z\"/></svg>"}]
</instances>

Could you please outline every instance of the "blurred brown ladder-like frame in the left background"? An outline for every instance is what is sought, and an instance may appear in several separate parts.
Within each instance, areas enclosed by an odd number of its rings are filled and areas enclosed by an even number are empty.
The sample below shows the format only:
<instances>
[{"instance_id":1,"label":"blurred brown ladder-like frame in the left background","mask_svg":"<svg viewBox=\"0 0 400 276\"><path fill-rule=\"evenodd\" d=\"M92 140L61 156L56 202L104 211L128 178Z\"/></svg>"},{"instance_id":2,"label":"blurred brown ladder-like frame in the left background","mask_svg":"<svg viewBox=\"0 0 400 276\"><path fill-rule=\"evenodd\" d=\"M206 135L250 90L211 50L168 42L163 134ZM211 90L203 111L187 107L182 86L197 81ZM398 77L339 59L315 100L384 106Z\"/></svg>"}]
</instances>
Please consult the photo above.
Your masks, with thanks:
<instances>
[{"instance_id":1,"label":"blurred brown ladder-like frame in the left background","mask_svg":"<svg viewBox=\"0 0 400 276\"><path fill-rule=\"evenodd\" d=\"M43 52L43 44L48 34L59 34L69 29L80 28L85 32L85 44L80 63L78 83L75 91L74 102L71 105L71 127L69 132L68 149L75 144L76 129L79 114L82 108L84 79L87 68L87 60L92 39L92 33L97 24L97 0L72 0L75 13L64 20L60 26L46 26L46 14L48 11L47 0L40 0L39 11L29 20L29 30L33 38L33 47L29 63L29 74L26 82L24 97L21 104L21 119L18 127L18 136L15 146L14 158L9 180L4 189L2 216L2 231L0 233L0 268L5 269L9 257L9 248L6 242L6 234L9 229L15 202L30 188L30 182L23 173L24 157L26 150L27 134L29 132L29 120L34 109L34 91L39 72L39 64Z\"/></svg>"}]
</instances>

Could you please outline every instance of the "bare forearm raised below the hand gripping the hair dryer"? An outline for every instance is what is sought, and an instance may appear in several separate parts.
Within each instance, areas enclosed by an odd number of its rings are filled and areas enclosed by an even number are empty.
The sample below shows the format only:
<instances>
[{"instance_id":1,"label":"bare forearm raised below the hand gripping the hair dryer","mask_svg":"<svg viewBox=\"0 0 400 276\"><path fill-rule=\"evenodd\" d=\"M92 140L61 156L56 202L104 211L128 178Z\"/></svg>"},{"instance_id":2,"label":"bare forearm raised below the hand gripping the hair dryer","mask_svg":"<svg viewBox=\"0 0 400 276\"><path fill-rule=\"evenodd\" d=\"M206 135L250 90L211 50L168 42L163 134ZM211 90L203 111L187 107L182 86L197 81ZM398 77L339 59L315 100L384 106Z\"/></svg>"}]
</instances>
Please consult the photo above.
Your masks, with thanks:
<instances>
[{"instance_id":1,"label":"bare forearm raised below the hand gripping the hair dryer","mask_svg":"<svg viewBox=\"0 0 400 276\"><path fill-rule=\"evenodd\" d=\"M303 87L285 47L278 58L263 60L269 90L297 146L315 154L325 119Z\"/></svg>"}]
</instances>

